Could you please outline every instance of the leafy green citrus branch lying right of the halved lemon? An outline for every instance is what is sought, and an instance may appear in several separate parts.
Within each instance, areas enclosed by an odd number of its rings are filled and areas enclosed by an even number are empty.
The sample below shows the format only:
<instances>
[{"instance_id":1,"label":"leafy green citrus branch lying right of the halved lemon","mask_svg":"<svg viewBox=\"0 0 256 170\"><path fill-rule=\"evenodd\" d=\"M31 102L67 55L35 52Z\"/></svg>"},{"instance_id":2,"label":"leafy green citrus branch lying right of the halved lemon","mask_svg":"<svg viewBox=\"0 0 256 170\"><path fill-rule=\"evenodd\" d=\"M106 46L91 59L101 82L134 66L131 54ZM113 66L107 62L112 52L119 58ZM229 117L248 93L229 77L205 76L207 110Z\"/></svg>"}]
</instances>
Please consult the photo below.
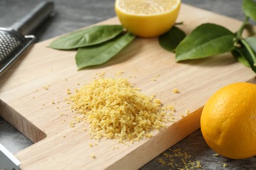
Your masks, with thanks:
<instances>
[{"instance_id":1,"label":"leafy green citrus branch lying right of the halved lemon","mask_svg":"<svg viewBox=\"0 0 256 170\"><path fill-rule=\"evenodd\" d=\"M181 29L173 27L160 36L160 45L175 52L177 62L231 52L234 58L256 73L256 37L242 37L244 30L251 25L249 21L256 21L255 1L243 0L242 9L245 20L236 33L221 25L206 23L186 36ZM173 41L173 37L176 41Z\"/></svg>"}]
</instances>

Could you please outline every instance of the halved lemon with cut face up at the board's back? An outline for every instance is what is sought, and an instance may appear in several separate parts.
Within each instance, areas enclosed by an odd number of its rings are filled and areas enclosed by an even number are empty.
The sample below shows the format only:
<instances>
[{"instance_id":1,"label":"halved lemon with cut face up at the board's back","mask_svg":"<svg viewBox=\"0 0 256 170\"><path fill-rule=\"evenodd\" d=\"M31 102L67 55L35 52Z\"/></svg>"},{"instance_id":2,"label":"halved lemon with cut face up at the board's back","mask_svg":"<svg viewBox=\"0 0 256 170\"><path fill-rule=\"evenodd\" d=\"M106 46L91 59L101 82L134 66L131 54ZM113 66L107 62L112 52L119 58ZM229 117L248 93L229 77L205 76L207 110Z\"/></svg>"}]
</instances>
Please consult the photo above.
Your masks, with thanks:
<instances>
[{"instance_id":1,"label":"halved lemon with cut face up at the board's back","mask_svg":"<svg viewBox=\"0 0 256 170\"><path fill-rule=\"evenodd\" d=\"M139 37L157 37L177 20L181 0L116 0L119 21Z\"/></svg>"}]
</instances>

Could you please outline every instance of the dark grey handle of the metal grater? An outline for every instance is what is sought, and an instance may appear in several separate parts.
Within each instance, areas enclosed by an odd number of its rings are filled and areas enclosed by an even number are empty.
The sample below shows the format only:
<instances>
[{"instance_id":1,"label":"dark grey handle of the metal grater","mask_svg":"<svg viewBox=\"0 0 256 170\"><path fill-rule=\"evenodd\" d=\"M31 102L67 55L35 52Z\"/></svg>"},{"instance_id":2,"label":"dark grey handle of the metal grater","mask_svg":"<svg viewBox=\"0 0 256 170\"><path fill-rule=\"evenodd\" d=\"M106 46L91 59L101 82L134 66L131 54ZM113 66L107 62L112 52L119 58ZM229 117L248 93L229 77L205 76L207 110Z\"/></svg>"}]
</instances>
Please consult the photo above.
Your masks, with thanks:
<instances>
[{"instance_id":1,"label":"dark grey handle of the metal grater","mask_svg":"<svg viewBox=\"0 0 256 170\"><path fill-rule=\"evenodd\" d=\"M11 28L22 33L22 35L28 35L35 27L41 24L45 18L53 13L53 9L54 4L52 1L43 1L20 21L15 22Z\"/></svg>"}]
</instances>

